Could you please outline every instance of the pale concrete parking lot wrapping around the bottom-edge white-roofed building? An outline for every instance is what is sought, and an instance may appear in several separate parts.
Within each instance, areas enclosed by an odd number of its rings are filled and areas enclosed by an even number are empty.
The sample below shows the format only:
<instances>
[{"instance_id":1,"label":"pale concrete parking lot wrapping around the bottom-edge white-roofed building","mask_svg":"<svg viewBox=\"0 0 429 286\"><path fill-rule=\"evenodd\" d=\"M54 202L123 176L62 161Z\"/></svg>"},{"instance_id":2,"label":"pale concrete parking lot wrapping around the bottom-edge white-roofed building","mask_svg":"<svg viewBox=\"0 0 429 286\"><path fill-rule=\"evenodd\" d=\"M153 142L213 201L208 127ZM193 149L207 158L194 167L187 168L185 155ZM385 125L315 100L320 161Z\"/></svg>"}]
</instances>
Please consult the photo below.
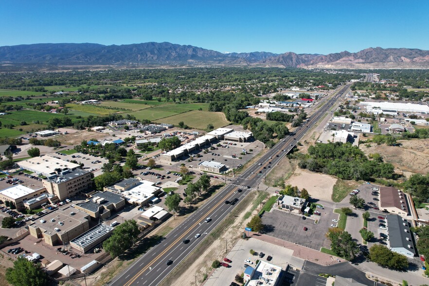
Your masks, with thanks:
<instances>
[{"instance_id":1,"label":"pale concrete parking lot wrapping around the bottom-edge white-roofed building","mask_svg":"<svg viewBox=\"0 0 429 286\"><path fill-rule=\"evenodd\" d=\"M260 258L258 255L250 255L250 250L256 252L263 252L264 256ZM249 259L254 267L256 260L267 261L268 256L272 259L269 263L280 266L283 270L286 270L287 265L292 265L294 268L303 268L304 259L296 258L292 256L293 250L283 248L268 242L260 241L257 239L244 240L240 239L238 242L229 250L226 258L232 260L228 268L219 267L215 269L215 272L208 278L205 286L217 286L217 285L230 285L234 281L236 274L244 272L244 264L246 259Z\"/></svg>"}]
</instances>

